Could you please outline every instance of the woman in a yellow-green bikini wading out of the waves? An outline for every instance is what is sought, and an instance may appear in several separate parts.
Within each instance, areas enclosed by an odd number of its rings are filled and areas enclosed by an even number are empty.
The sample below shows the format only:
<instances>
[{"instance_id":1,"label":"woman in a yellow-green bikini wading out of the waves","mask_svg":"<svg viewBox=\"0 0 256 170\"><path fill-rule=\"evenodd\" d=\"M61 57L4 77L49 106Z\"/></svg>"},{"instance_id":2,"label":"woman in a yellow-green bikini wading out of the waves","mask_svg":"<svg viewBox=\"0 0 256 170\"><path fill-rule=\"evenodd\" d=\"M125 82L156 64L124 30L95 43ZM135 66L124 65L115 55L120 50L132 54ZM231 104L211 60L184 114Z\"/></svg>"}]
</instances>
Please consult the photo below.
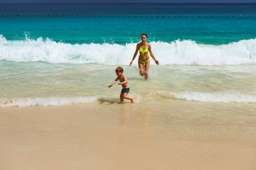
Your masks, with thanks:
<instances>
[{"instance_id":1,"label":"woman in a yellow-green bikini wading out of the waves","mask_svg":"<svg viewBox=\"0 0 256 170\"><path fill-rule=\"evenodd\" d=\"M149 79L149 54L154 59L156 64L159 64L159 61L156 60L153 53L151 52L151 45L146 42L147 35L142 34L142 42L139 42L137 44L136 50L134 52L134 57L132 58L132 62L134 61L135 57L138 54L139 51L139 74L145 77L145 79ZM132 65L132 62L130 62L130 66Z\"/></svg>"}]
</instances>

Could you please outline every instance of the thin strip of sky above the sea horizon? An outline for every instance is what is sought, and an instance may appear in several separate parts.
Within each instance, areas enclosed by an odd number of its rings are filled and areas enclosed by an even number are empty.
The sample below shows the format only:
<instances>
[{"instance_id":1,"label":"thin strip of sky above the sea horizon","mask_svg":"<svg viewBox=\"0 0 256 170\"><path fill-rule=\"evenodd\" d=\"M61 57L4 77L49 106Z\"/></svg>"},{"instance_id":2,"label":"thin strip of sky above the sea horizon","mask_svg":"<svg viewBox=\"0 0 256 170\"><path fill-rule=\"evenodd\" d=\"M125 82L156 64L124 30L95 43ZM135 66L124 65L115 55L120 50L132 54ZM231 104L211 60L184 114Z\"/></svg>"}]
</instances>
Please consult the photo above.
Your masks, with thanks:
<instances>
[{"instance_id":1,"label":"thin strip of sky above the sea horizon","mask_svg":"<svg viewBox=\"0 0 256 170\"><path fill-rule=\"evenodd\" d=\"M256 0L0 0L0 4L23 3L256 3Z\"/></svg>"}]
</instances>

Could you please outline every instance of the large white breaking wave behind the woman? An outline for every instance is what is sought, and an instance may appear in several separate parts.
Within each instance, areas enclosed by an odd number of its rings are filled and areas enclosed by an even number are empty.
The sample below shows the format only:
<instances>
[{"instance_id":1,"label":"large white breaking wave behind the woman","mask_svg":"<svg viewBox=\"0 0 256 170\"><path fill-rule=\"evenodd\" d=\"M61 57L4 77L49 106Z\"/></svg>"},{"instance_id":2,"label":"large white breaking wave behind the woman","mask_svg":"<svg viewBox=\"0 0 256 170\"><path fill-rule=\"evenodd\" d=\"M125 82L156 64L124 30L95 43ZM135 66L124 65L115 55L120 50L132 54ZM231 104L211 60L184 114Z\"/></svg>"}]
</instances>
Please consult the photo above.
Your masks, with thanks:
<instances>
[{"instance_id":1,"label":"large white breaking wave behind the woman","mask_svg":"<svg viewBox=\"0 0 256 170\"><path fill-rule=\"evenodd\" d=\"M256 64L256 39L240 40L228 45L201 45L192 40L150 43L160 64ZM48 38L6 40L0 35L0 61L127 65L132 60L135 47L135 43L71 45Z\"/></svg>"}]
</instances>

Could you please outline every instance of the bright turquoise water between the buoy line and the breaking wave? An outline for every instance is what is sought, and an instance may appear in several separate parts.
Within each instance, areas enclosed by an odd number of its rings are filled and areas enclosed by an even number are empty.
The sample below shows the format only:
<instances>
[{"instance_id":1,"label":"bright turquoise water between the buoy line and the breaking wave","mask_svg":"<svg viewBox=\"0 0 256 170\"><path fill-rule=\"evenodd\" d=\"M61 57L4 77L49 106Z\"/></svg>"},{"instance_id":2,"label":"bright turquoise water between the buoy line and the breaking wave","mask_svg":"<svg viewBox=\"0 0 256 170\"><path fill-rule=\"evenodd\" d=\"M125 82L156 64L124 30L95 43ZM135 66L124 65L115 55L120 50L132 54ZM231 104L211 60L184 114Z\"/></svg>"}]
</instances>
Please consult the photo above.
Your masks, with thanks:
<instances>
[{"instance_id":1,"label":"bright turquoise water between the buoy line and the breaking wave","mask_svg":"<svg viewBox=\"0 0 256 170\"><path fill-rule=\"evenodd\" d=\"M0 18L0 33L7 40L49 38L70 44L193 40L198 44L222 45L256 38L255 18ZM250 24L248 24L250 23ZM27 37L26 37L27 35Z\"/></svg>"}]
</instances>

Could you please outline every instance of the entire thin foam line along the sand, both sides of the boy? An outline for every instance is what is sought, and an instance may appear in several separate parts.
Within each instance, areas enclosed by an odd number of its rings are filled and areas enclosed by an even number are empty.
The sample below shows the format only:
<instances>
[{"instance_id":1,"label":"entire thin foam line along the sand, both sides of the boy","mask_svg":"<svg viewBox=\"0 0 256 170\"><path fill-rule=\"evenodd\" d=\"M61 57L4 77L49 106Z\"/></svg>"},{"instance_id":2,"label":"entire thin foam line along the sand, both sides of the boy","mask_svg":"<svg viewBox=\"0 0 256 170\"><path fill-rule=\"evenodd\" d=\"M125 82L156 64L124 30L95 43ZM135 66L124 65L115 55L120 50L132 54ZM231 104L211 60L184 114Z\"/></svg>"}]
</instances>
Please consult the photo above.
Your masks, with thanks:
<instances>
[{"instance_id":1,"label":"entire thin foam line along the sand, both sides of the boy","mask_svg":"<svg viewBox=\"0 0 256 170\"><path fill-rule=\"evenodd\" d=\"M153 98L152 98L153 96ZM185 91L171 94L151 94L151 99L157 97L176 98L185 101L201 101L207 103L256 103L256 94L227 94L227 93L203 93L198 91ZM142 96L135 96L135 103L141 103ZM76 96L63 98L12 98L1 100L0 108L26 107L26 106L65 106L78 103L95 103L95 101L115 103L119 98L99 98L98 96Z\"/></svg>"}]
</instances>

